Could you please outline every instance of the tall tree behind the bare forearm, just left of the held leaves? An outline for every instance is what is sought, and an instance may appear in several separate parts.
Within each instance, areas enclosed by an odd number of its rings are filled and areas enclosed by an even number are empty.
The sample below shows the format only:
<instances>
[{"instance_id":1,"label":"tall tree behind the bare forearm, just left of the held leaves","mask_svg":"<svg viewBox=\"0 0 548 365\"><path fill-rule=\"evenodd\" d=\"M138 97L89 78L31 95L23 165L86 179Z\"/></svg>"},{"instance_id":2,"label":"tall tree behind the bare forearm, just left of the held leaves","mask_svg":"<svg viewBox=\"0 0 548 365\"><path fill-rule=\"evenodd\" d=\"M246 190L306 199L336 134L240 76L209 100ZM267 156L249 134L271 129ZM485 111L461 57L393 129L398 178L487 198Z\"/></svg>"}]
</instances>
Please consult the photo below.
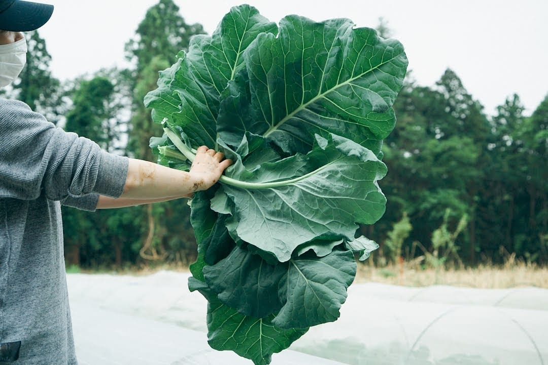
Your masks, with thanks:
<instances>
[{"instance_id":1,"label":"tall tree behind the bare forearm, just left of the held leaves","mask_svg":"<svg viewBox=\"0 0 548 365\"><path fill-rule=\"evenodd\" d=\"M149 140L161 136L162 128L152 122L150 110L143 104L146 93L156 89L159 70L175 63L176 55L186 50L195 34L203 34L202 25L189 25L179 14L173 0L160 0L140 22L134 39L125 45L128 60L134 65L132 118L127 154L153 161ZM189 207L184 199L141 207L139 218L147 231L140 242L141 256L180 261L194 252L195 241L190 226Z\"/></svg>"}]
</instances>

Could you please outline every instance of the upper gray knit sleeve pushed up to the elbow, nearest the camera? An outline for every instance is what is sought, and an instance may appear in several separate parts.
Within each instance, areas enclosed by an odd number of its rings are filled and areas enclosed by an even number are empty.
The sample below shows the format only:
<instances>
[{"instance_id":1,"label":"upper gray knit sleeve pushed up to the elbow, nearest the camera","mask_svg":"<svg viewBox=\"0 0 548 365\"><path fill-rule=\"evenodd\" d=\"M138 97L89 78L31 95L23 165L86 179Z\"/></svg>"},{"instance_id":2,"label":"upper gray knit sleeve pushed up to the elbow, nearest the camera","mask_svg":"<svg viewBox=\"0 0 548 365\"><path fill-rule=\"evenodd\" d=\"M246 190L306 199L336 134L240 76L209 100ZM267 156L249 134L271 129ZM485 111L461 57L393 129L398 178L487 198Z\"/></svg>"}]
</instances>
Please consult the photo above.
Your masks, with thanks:
<instances>
[{"instance_id":1,"label":"upper gray knit sleeve pushed up to the elbow, nearest the camera","mask_svg":"<svg viewBox=\"0 0 548 365\"><path fill-rule=\"evenodd\" d=\"M56 128L24 103L0 99L0 198L119 197L128 159ZM89 202L88 198L88 202Z\"/></svg>"}]
</instances>

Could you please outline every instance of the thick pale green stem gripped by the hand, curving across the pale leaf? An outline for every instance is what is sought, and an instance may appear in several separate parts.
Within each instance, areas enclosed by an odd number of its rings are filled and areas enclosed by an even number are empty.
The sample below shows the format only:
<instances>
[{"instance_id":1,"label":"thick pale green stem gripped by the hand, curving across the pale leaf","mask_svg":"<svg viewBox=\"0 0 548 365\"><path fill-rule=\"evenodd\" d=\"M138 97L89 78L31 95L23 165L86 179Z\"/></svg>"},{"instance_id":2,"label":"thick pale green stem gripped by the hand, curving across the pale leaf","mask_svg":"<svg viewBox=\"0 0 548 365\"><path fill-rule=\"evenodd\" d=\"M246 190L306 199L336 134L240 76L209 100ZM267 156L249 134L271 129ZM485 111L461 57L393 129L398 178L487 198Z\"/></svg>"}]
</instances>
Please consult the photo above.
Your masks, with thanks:
<instances>
[{"instance_id":1,"label":"thick pale green stem gripped by the hand, curving across the pale leaf","mask_svg":"<svg viewBox=\"0 0 548 365\"><path fill-rule=\"evenodd\" d=\"M169 128L164 128L164 132L166 136L173 142L175 147L183 154L190 162L194 161L194 158L196 155L182 142L182 140L177 136L175 132L173 132ZM246 182L241 180L236 180L229 178L228 176L222 175L219 179L219 182L222 182L223 184L239 187L241 189L276 189L277 187L287 186L291 184L296 184L297 182L307 179L312 175L315 175L319 172L321 172L323 169L326 169L328 166L338 162L340 158L337 158L336 160L333 160L327 164L324 164L322 167L319 167L312 172L309 172L305 175L299 176L298 178L289 179L289 180L282 180L282 181L273 181L273 182Z\"/></svg>"}]
</instances>

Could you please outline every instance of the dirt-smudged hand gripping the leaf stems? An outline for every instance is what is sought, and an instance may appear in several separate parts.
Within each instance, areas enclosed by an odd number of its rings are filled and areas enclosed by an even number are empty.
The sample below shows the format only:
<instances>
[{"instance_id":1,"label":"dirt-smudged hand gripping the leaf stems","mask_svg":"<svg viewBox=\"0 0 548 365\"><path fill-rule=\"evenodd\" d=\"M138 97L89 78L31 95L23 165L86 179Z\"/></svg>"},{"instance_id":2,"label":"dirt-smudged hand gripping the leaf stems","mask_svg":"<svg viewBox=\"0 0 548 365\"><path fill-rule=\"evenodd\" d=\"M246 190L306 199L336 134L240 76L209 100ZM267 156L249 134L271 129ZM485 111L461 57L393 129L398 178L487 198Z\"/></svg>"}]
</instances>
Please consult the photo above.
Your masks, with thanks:
<instances>
[{"instance_id":1,"label":"dirt-smudged hand gripping the leaf stems","mask_svg":"<svg viewBox=\"0 0 548 365\"><path fill-rule=\"evenodd\" d=\"M225 160L221 152L201 146L190 168L190 174L195 180L194 191L207 190L219 180L224 170L232 164L232 160Z\"/></svg>"}]
</instances>

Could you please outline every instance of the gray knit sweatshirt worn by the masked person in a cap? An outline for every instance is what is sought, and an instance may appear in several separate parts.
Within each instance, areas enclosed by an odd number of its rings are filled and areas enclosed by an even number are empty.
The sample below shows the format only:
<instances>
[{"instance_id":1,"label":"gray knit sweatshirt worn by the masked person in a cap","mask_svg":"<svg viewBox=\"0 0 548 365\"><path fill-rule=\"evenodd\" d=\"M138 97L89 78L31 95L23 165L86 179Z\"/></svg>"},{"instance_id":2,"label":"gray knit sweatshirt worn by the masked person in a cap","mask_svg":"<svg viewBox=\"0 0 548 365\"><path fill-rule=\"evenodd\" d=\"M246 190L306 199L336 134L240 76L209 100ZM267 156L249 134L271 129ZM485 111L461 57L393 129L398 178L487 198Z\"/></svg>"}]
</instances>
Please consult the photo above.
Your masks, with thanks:
<instances>
[{"instance_id":1,"label":"gray knit sweatshirt worn by the masked person in a cap","mask_svg":"<svg viewBox=\"0 0 548 365\"><path fill-rule=\"evenodd\" d=\"M60 207L120 196L127 170L127 158L0 98L0 363L77 363Z\"/></svg>"}]
</instances>

